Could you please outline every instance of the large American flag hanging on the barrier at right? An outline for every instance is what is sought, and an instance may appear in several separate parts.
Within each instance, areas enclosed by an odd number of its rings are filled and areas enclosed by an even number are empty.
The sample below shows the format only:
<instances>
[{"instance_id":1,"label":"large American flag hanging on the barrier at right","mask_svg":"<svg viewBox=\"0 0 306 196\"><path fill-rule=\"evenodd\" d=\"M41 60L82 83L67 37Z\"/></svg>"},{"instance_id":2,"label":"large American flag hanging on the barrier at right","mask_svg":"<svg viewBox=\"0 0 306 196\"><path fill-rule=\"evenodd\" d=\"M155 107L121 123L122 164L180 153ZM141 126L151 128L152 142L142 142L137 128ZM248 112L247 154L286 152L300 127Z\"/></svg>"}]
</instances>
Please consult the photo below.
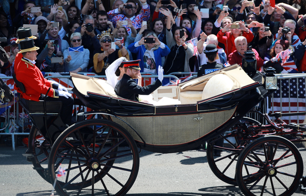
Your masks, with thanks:
<instances>
[{"instance_id":1,"label":"large American flag hanging on the barrier at right","mask_svg":"<svg viewBox=\"0 0 306 196\"><path fill-rule=\"evenodd\" d=\"M304 73L304 72L302 72ZM305 78L278 80L278 89L273 94L273 112L304 112L305 111ZM280 89L282 87L282 89ZM281 98L282 97L282 98ZM299 123L303 123L304 115L298 116ZM297 116L282 117L286 123L298 123Z\"/></svg>"}]
</instances>

